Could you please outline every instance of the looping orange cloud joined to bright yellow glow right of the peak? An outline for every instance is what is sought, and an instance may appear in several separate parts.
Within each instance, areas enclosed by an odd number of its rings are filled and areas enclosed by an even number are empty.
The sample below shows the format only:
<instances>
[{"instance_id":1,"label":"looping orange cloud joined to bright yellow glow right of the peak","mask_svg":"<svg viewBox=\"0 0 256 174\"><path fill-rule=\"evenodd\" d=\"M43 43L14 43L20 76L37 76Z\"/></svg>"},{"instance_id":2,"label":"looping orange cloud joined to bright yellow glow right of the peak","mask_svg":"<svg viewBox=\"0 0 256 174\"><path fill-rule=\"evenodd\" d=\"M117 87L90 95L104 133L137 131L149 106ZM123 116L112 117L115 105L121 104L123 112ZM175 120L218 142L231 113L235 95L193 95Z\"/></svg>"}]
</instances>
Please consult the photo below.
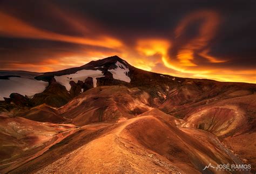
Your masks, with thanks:
<instances>
[{"instance_id":1,"label":"looping orange cloud joined to bright yellow glow right of the peak","mask_svg":"<svg viewBox=\"0 0 256 174\"><path fill-rule=\"evenodd\" d=\"M163 64L172 69L172 73L162 72L165 74L181 77L215 79L219 81L242 82L246 80L248 82L255 82L255 71L247 72L246 74L250 76L250 78L248 78L244 76L245 74L242 75L239 72L234 73L227 71L225 68L221 69L214 65L215 63L227 61L210 55L210 48L207 47L210 40L215 36L220 21L219 18L219 15L213 11L203 10L190 13L178 24L175 31L175 38L170 38L169 40L141 39L137 42L137 51L144 53L146 56L156 53L160 54ZM188 24L193 23L194 20L197 19L203 19L203 23L199 27L198 35L185 41L184 45L180 45L177 54L171 57L168 51L172 50L177 40L179 41L179 39L181 39ZM194 62L196 55L200 55L202 58L206 59L209 65L204 66L196 64L196 62ZM158 69L158 72L161 72L161 69Z\"/></svg>"}]
</instances>

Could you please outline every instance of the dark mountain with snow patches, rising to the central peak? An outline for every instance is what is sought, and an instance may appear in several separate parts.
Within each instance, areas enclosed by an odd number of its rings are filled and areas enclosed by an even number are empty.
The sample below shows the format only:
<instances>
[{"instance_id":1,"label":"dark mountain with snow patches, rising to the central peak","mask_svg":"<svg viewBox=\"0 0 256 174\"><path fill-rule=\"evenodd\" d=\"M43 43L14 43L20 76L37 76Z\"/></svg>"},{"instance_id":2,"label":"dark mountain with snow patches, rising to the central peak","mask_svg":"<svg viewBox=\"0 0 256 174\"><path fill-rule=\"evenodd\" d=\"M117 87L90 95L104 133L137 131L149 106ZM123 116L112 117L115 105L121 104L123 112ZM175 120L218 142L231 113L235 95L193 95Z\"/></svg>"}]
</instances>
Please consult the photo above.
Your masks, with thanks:
<instances>
[{"instance_id":1,"label":"dark mountain with snow patches, rising to the central peak","mask_svg":"<svg viewBox=\"0 0 256 174\"><path fill-rule=\"evenodd\" d=\"M182 79L169 75L143 71L131 66L125 60L113 56L56 72L1 71L0 100L8 98L11 93L18 93L28 96L37 104L49 104L45 100L50 101L50 98L58 101L57 103L60 101L63 103L63 101L67 102L92 87L106 85L129 87L154 85L153 91L159 95L159 100L161 100L166 95L165 88L169 88L170 85L178 83L180 80ZM170 84L167 85L168 83ZM65 96L65 100L63 96ZM59 107L60 104L53 106Z\"/></svg>"}]
</instances>

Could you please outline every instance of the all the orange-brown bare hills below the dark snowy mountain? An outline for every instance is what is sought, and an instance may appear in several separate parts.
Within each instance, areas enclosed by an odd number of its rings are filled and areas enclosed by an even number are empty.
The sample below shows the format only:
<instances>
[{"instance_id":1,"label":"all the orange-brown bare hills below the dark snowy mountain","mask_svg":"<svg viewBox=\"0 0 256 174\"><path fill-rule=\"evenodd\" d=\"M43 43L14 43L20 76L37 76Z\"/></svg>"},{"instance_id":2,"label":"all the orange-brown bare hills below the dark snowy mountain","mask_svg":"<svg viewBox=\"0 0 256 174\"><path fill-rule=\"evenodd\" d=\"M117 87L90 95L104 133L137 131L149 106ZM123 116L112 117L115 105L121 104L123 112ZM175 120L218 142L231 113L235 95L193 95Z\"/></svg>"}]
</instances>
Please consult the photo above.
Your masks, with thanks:
<instances>
[{"instance_id":1,"label":"all the orange-brown bare hills below the dark snowy mountain","mask_svg":"<svg viewBox=\"0 0 256 174\"><path fill-rule=\"evenodd\" d=\"M251 164L254 172L256 95L240 93L192 104L193 110L180 105L183 119L150 107L149 95L124 86L93 88L59 109L39 106L28 112L58 113L76 126L2 115L0 170L200 173L209 163L228 163Z\"/></svg>"}]
</instances>

